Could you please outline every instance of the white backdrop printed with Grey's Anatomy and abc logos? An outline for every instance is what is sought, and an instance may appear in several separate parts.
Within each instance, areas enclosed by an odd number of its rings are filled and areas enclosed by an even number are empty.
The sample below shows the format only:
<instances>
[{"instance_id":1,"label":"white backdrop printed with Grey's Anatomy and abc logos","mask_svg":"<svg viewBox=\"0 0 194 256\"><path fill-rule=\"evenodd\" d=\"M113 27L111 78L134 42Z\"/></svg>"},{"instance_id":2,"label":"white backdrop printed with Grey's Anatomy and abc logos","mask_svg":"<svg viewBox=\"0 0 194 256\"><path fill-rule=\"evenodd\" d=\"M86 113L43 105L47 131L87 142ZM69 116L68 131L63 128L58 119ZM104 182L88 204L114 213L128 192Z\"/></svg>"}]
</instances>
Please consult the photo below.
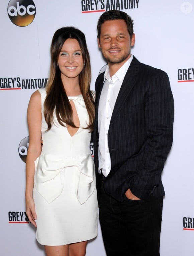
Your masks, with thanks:
<instances>
[{"instance_id":1,"label":"white backdrop printed with Grey's Anatomy and abc logos","mask_svg":"<svg viewBox=\"0 0 194 256\"><path fill-rule=\"evenodd\" d=\"M190 0L3 0L0 3L0 251L43 256L25 215L27 105L45 86L50 44L62 26L81 29L91 57L92 83L106 64L96 24L106 10L134 19L132 53L167 72L175 102L174 142L165 164L161 256L193 256L194 241L194 2ZM48 223L49 225L49 223ZM87 256L105 256L101 231ZM121 255L122 256L122 255Z\"/></svg>"}]
</instances>

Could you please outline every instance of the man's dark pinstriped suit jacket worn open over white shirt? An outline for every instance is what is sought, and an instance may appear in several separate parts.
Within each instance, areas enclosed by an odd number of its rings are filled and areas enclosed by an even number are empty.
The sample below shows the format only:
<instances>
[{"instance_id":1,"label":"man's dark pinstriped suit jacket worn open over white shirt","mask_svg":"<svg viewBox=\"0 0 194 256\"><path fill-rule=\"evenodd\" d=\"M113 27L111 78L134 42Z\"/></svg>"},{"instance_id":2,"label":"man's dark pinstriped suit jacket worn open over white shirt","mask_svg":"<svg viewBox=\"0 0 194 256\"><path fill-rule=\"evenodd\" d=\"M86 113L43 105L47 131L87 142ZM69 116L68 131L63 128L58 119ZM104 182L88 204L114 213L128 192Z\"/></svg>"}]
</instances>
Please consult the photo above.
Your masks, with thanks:
<instances>
[{"instance_id":1,"label":"man's dark pinstriped suit jacket worn open over white shirt","mask_svg":"<svg viewBox=\"0 0 194 256\"><path fill-rule=\"evenodd\" d=\"M93 133L98 199L98 104L104 73L96 80ZM173 141L174 103L167 74L135 57L124 77L108 130L111 171L105 191L118 201L128 188L141 199L164 196L161 173Z\"/></svg>"}]
</instances>

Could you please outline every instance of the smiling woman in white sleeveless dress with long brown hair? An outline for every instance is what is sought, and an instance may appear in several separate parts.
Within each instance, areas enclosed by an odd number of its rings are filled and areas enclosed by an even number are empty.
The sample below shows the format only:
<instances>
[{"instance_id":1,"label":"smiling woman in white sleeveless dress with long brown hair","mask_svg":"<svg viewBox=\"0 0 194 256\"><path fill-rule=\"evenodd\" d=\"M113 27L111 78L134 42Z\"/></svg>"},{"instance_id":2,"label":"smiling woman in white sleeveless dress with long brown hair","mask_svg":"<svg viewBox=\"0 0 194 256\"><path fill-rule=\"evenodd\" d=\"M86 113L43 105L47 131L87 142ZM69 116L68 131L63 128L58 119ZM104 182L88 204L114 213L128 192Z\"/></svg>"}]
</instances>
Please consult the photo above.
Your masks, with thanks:
<instances>
[{"instance_id":1,"label":"smiling woman in white sleeveless dress with long brown hair","mask_svg":"<svg viewBox=\"0 0 194 256\"><path fill-rule=\"evenodd\" d=\"M97 236L90 81L84 34L58 29L48 84L32 94L27 111L26 213L47 256L85 255L87 241Z\"/></svg>"}]
</instances>

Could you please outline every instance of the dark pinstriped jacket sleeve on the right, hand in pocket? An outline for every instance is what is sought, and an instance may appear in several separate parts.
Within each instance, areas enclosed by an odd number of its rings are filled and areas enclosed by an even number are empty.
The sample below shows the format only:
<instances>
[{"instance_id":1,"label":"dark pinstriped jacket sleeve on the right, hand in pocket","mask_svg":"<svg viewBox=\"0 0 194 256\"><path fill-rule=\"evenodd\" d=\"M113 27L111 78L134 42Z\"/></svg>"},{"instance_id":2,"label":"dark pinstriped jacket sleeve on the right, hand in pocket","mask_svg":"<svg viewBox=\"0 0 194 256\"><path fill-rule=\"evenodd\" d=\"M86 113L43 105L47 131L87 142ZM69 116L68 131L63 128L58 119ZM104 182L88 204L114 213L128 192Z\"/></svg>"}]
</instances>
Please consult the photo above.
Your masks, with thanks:
<instances>
[{"instance_id":1,"label":"dark pinstriped jacket sleeve on the right, hand in pocket","mask_svg":"<svg viewBox=\"0 0 194 256\"><path fill-rule=\"evenodd\" d=\"M146 199L161 184L164 162L173 141L173 95L168 75L162 70L150 78L145 115L147 141L144 156L130 185L131 192L141 199Z\"/></svg>"}]
</instances>

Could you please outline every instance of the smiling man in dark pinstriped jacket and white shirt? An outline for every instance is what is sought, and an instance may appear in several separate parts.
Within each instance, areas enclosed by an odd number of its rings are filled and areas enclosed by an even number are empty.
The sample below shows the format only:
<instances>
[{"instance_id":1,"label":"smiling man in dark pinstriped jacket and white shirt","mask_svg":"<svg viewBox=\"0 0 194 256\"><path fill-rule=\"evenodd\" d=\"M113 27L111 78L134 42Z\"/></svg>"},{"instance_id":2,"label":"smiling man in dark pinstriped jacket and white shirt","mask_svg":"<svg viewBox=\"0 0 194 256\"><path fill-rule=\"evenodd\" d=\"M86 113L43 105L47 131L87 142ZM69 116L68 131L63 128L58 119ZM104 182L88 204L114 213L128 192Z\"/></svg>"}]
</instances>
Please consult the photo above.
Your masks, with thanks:
<instances>
[{"instance_id":1,"label":"smiling man in dark pinstriped jacket and white shirt","mask_svg":"<svg viewBox=\"0 0 194 256\"><path fill-rule=\"evenodd\" d=\"M104 12L98 45L108 62L96 80L94 161L107 256L158 256L174 104L167 74L131 55L133 20Z\"/></svg>"}]
</instances>

